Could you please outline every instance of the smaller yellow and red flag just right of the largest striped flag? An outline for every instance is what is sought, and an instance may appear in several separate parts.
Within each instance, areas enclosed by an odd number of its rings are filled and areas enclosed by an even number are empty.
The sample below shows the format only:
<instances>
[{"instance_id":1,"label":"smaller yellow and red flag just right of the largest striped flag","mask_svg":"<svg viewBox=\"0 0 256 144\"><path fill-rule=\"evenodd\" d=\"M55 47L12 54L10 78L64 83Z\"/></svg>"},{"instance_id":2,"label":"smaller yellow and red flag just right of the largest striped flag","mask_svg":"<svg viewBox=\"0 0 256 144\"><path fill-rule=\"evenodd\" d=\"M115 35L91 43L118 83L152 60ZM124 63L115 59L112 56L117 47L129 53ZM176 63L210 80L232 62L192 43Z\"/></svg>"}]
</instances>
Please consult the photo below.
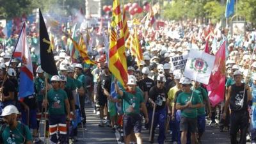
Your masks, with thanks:
<instances>
[{"instance_id":1,"label":"smaller yellow and red flag just right of the largest striped flag","mask_svg":"<svg viewBox=\"0 0 256 144\"><path fill-rule=\"evenodd\" d=\"M134 27L133 29L130 51L132 56L135 56L137 58L137 64L140 65L140 62L143 61L143 53L140 46L140 39L138 37L136 27Z\"/></svg>"}]
</instances>

